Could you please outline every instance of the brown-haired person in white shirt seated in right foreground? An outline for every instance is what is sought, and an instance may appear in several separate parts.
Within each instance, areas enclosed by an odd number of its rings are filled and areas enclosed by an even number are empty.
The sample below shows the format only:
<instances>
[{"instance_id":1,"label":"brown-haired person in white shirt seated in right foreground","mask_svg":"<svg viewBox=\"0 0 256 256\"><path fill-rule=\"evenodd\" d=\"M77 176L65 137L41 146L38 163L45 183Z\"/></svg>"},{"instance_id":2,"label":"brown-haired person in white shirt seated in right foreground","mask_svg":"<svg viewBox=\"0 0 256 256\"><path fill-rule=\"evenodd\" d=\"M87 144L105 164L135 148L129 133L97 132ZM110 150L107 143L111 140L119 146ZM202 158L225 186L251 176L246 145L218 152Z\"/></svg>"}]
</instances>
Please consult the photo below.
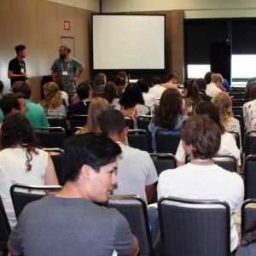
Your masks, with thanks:
<instances>
[{"instance_id":1,"label":"brown-haired person in white shirt seated in right foreground","mask_svg":"<svg viewBox=\"0 0 256 256\"><path fill-rule=\"evenodd\" d=\"M191 161L185 166L161 172L157 188L159 199L169 195L195 200L224 200L230 205L230 214L240 212L244 198L241 177L217 166L212 160L221 143L218 125L207 116L191 116L181 127L181 141ZM238 244L239 236L231 218L231 251Z\"/></svg>"}]
</instances>

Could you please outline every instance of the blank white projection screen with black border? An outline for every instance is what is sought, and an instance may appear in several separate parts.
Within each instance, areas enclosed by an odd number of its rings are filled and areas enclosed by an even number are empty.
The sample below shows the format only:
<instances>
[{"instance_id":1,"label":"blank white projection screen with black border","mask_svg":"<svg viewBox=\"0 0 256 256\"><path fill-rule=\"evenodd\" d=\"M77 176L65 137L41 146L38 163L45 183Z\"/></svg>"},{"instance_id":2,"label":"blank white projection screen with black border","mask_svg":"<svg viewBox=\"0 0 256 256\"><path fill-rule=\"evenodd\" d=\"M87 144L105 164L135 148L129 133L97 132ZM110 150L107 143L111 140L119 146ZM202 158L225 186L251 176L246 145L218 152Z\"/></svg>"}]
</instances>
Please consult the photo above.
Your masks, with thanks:
<instances>
[{"instance_id":1,"label":"blank white projection screen with black border","mask_svg":"<svg viewBox=\"0 0 256 256\"><path fill-rule=\"evenodd\" d=\"M164 70L165 15L92 15L94 70Z\"/></svg>"}]
</instances>

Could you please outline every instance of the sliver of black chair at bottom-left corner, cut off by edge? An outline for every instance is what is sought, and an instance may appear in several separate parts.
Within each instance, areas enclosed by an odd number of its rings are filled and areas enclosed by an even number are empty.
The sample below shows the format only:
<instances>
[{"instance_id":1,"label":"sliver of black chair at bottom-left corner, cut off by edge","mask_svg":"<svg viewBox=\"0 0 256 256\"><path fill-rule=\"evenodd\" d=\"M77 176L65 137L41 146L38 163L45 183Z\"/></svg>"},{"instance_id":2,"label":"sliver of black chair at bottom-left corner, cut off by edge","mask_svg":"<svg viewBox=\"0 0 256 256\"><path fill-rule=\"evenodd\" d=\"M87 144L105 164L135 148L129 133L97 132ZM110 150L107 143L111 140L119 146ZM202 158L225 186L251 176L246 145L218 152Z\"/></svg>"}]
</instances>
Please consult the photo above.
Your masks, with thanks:
<instances>
[{"instance_id":1,"label":"sliver of black chair at bottom-left corner, cut off by edge","mask_svg":"<svg viewBox=\"0 0 256 256\"><path fill-rule=\"evenodd\" d=\"M0 252L3 252L3 256L8 255L7 244L10 231L11 228L9 225L9 220L3 207L3 201L0 197Z\"/></svg>"}]
</instances>

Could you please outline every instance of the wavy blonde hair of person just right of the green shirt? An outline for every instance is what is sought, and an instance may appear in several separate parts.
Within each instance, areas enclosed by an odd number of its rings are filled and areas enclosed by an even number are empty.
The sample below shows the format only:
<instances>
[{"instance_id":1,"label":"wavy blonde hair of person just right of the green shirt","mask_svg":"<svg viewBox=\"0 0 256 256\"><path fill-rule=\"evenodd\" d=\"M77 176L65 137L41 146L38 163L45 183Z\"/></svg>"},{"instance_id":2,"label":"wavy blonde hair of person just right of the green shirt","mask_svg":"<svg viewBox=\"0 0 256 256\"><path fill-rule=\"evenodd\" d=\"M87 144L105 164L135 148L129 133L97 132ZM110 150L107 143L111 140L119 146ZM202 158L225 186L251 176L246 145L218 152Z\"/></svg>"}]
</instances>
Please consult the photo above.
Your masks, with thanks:
<instances>
[{"instance_id":1,"label":"wavy blonde hair of person just right of the green shirt","mask_svg":"<svg viewBox=\"0 0 256 256\"><path fill-rule=\"evenodd\" d=\"M43 89L47 93L44 100L40 102L43 108L55 109L63 104L63 99L61 97L61 91L59 90L58 84L55 82L49 82L43 85Z\"/></svg>"}]
</instances>

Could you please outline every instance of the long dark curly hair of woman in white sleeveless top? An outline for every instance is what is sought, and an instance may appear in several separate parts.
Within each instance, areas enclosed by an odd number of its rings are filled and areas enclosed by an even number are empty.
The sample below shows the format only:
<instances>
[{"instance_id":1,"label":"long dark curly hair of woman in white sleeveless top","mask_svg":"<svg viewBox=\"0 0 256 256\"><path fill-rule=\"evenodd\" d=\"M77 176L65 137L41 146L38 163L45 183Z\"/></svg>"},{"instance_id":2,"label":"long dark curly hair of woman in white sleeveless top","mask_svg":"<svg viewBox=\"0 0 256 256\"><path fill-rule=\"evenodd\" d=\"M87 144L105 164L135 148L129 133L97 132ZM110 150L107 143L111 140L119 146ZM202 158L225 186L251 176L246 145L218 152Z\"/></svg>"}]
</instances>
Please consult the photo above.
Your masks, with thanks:
<instances>
[{"instance_id":1,"label":"long dark curly hair of woman in white sleeveless top","mask_svg":"<svg viewBox=\"0 0 256 256\"><path fill-rule=\"evenodd\" d=\"M26 172L32 170L32 153L39 154L41 148L32 125L23 114L9 113L3 119L1 133L2 149L20 146L26 148Z\"/></svg>"}]
</instances>

